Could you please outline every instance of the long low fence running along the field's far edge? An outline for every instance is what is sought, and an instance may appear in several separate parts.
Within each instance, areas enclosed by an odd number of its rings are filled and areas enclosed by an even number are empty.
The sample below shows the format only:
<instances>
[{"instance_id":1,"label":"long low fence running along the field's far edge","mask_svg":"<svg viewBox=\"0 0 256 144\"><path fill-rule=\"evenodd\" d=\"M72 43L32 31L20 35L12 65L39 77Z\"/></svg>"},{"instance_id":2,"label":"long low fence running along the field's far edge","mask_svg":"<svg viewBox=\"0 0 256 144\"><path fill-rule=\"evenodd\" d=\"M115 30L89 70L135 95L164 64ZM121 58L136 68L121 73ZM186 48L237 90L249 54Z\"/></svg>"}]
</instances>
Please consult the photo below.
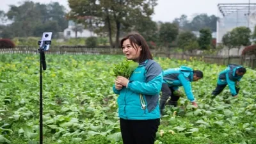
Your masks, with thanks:
<instances>
[{"instance_id":1,"label":"long low fence running along the field's far edge","mask_svg":"<svg viewBox=\"0 0 256 144\"><path fill-rule=\"evenodd\" d=\"M178 60L197 60L205 61L206 63L217 63L219 65L228 65L234 63L237 65L245 65L251 68L256 68L256 58L253 56L205 56L202 54L180 54L172 52L161 52L152 50L154 56L167 57ZM10 49L0 49L0 54L38 54L38 49L35 47L16 47ZM83 47L51 47L46 54L122 54L119 48L83 48Z\"/></svg>"}]
</instances>

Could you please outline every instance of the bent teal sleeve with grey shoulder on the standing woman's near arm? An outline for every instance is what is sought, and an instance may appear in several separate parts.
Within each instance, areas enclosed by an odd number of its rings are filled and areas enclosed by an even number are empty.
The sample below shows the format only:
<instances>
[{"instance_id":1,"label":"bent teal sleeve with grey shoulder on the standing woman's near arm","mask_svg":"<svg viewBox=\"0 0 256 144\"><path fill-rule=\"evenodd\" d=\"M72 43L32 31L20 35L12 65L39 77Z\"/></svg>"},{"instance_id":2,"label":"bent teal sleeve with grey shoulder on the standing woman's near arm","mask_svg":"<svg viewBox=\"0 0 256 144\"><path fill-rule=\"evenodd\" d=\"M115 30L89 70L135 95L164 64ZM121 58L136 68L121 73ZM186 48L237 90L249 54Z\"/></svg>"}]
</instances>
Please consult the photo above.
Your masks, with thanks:
<instances>
[{"instance_id":1,"label":"bent teal sleeve with grey shoulder on the standing woman's near arm","mask_svg":"<svg viewBox=\"0 0 256 144\"><path fill-rule=\"evenodd\" d=\"M163 83L163 70L158 63L152 63L146 69L146 82L129 81L127 89L144 95L157 95L161 91Z\"/></svg>"}]
</instances>

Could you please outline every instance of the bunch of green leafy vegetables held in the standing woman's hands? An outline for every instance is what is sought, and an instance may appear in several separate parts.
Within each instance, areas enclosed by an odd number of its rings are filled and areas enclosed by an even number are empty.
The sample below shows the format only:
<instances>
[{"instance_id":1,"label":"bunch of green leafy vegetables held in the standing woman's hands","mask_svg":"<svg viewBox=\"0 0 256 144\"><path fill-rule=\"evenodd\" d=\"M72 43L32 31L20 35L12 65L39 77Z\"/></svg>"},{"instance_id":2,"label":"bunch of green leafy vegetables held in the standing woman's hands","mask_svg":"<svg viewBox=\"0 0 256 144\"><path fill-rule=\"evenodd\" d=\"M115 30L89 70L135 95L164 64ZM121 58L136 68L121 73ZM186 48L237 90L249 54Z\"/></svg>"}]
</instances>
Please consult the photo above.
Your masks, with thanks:
<instances>
[{"instance_id":1,"label":"bunch of green leafy vegetables held in the standing woman's hands","mask_svg":"<svg viewBox=\"0 0 256 144\"><path fill-rule=\"evenodd\" d=\"M115 64L113 69L114 76L123 76L129 78L132 72L139 66L138 63L131 60L123 60L118 64Z\"/></svg>"}]
</instances>

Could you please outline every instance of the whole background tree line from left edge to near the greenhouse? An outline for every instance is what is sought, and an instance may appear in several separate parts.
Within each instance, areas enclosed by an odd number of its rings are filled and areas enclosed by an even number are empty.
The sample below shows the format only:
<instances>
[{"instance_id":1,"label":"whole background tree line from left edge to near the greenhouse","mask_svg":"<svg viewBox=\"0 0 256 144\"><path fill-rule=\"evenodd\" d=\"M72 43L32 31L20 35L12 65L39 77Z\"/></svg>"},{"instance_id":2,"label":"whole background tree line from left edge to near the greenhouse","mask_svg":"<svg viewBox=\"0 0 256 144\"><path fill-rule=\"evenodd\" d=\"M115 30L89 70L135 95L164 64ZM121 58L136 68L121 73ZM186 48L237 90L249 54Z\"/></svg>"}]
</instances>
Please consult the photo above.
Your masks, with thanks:
<instances>
[{"instance_id":1,"label":"whole background tree line from left edge to near the greenhouse","mask_svg":"<svg viewBox=\"0 0 256 144\"><path fill-rule=\"evenodd\" d=\"M208 16L203 13L195 15L191 21L186 15L181 15L173 22L155 22L151 17L157 0L68 0L68 4L70 12L66 12L64 6L59 3L40 4L25 1L19 6L12 5L8 12L0 11L0 36L41 36L42 31L57 34L67 28L68 20L74 20L77 24L74 31L90 29L99 36L108 37L111 47L120 47L120 37L136 31L153 46L172 47L179 44L184 49L191 49L201 45L202 49L208 49L211 46L211 36L207 35L208 37L199 40L191 31L202 30L202 35L216 31L218 19L215 15ZM186 44L178 42L183 40L184 36L191 38ZM207 44L203 44L206 41Z\"/></svg>"}]
</instances>

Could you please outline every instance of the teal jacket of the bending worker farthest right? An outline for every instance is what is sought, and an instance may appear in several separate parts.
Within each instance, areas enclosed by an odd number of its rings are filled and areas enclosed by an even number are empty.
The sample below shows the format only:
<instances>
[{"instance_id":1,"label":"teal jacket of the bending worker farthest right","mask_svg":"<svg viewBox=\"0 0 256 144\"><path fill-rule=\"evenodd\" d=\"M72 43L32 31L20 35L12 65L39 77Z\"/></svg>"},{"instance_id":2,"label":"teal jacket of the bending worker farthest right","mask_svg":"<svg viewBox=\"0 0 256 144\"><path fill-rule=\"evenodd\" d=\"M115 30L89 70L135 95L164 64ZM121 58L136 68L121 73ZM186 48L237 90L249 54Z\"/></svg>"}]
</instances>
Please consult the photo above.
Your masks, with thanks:
<instances>
[{"instance_id":1,"label":"teal jacket of the bending worker farthest right","mask_svg":"<svg viewBox=\"0 0 256 144\"><path fill-rule=\"evenodd\" d=\"M230 93L232 96L237 95L236 92L236 81L240 81L243 76L237 76L236 70L237 68L241 68L241 65L228 65L228 67L220 72L218 77L218 84L226 85L230 89Z\"/></svg>"}]
</instances>

